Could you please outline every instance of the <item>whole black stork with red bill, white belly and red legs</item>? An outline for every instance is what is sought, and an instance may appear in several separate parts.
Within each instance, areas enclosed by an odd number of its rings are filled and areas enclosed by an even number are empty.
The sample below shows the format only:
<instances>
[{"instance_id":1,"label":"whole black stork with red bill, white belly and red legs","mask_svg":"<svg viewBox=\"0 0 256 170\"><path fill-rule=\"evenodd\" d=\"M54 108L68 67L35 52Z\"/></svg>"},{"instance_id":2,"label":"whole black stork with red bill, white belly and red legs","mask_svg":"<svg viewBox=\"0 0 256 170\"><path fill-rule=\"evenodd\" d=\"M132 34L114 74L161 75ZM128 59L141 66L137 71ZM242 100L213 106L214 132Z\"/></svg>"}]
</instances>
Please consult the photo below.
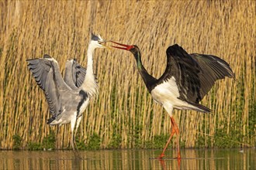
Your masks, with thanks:
<instances>
[{"instance_id":1,"label":"whole black stork with red bill, white belly and red legs","mask_svg":"<svg viewBox=\"0 0 256 170\"><path fill-rule=\"evenodd\" d=\"M113 41L112 41L113 42ZM173 109L196 110L208 113L211 110L199 104L199 101L209 92L216 80L224 79L225 76L234 78L230 65L217 56L198 53L187 53L177 44L169 46L166 50L167 66L163 75L156 79L147 73L141 62L140 49L136 45L125 45L113 42L119 46L112 46L118 49L125 49L133 53L147 90L154 101L161 104L171 118L171 135L164 150L158 158L164 157L164 151L174 134L177 135L178 159L181 159L179 151L179 131L172 117ZM120 47L123 46L123 47Z\"/></svg>"}]
</instances>

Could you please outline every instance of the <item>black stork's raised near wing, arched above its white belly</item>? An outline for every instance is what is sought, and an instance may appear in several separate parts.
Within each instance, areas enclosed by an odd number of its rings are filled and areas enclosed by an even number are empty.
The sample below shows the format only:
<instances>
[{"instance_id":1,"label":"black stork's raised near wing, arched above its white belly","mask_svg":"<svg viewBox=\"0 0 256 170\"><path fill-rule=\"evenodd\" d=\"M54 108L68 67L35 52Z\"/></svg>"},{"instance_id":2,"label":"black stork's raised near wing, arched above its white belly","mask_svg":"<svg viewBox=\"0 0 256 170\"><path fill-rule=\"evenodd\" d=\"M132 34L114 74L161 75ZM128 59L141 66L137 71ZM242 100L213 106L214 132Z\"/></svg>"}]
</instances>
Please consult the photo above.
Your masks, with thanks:
<instances>
[{"instance_id":1,"label":"black stork's raised near wing, arched above its white belly","mask_svg":"<svg viewBox=\"0 0 256 170\"><path fill-rule=\"evenodd\" d=\"M169 46L167 51L167 66L164 74L159 81L168 80L171 76L175 77L180 93L180 99L191 103L201 100L200 88L201 83L198 74L201 69L199 63L175 44Z\"/></svg>"}]
</instances>

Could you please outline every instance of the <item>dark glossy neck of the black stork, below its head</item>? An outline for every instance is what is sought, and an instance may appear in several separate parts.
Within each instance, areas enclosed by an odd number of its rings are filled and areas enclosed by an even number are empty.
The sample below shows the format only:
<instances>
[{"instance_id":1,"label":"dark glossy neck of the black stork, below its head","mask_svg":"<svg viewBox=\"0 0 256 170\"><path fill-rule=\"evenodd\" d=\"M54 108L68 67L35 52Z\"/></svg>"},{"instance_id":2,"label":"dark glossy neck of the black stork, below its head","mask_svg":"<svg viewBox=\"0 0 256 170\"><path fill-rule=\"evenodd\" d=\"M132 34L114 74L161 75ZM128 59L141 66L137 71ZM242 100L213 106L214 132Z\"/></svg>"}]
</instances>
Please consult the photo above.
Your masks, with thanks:
<instances>
[{"instance_id":1,"label":"dark glossy neck of the black stork, below its head","mask_svg":"<svg viewBox=\"0 0 256 170\"><path fill-rule=\"evenodd\" d=\"M139 70L140 75L142 76L142 79L144 80L144 83L146 84L147 90L151 91L151 86L155 82L154 76L151 76L149 73L147 73L147 70L143 66L140 58L140 51L137 51L137 53L133 53L136 62L137 62L137 68Z\"/></svg>"}]
</instances>

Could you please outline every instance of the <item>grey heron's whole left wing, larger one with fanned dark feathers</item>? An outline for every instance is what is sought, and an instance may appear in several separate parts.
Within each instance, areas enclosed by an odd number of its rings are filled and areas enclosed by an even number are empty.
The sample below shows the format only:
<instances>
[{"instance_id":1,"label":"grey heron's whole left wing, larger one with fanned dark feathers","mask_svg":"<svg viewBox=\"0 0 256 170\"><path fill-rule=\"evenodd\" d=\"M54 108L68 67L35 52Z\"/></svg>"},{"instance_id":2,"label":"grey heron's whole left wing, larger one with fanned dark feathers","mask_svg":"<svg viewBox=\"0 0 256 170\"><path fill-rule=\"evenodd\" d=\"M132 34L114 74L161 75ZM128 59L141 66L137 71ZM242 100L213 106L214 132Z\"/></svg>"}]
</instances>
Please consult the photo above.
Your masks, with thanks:
<instances>
[{"instance_id":1,"label":"grey heron's whole left wing, larger one with fanned dark feathers","mask_svg":"<svg viewBox=\"0 0 256 170\"><path fill-rule=\"evenodd\" d=\"M43 59L27 59L29 71L33 74L36 83L43 90L50 113L57 115L61 113L61 90L69 90L64 83L56 60L50 56L43 56ZM62 82L61 82L62 80ZM58 82L59 81L59 82Z\"/></svg>"}]
</instances>

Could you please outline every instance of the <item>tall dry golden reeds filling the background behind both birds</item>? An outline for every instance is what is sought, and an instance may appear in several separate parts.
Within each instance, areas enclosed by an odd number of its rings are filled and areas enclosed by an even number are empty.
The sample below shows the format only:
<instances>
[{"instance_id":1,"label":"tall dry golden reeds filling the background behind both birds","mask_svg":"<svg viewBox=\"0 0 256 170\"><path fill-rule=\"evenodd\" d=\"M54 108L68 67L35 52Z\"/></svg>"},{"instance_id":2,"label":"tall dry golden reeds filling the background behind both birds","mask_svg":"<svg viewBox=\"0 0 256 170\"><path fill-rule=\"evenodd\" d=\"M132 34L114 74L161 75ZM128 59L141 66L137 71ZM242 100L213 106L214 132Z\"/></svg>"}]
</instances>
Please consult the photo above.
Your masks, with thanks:
<instances>
[{"instance_id":1,"label":"tall dry golden reeds filling the background behind both birds","mask_svg":"<svg viewBox=\"0 0 256 170\"><path fill-rule=\"evenodd\" d=\"M69 146L70 125L57 131L46 123L47 102L26 59L47 53L62 72L70 58L86 66L92 31L140 46L144 66L156 77L174 43L189 53L225 59L237 80L218 81L202 100L213 113L175 111L182 146L255 146L255 6L254 1L0 2L0 148L13 148L14 135L22 137L22 148L42 142L50 129L57 148ZM170 133L171 122L147 93L132 54L96 49L94 60L99 97L84 113L78 140L88 144L98 134L101 148L117 141L121 148L154 148Z\"/></svg>"}]
</instances>

